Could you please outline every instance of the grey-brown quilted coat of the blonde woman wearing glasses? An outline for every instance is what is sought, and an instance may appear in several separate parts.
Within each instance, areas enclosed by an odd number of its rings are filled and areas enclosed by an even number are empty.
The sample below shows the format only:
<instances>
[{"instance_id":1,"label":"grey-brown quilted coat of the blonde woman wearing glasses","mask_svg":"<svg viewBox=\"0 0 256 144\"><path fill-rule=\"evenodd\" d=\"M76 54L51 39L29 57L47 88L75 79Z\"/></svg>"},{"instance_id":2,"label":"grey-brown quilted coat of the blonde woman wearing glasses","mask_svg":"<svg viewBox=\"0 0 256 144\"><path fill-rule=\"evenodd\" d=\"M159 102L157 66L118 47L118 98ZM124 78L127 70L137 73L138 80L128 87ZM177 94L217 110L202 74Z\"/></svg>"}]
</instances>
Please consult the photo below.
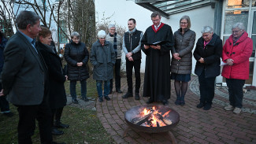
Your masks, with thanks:
<instances>
[{"instance_id":1,"label":"grey-brown quilted coat of the blonde woman wearing glasses","mask_svg":"<svg viewBox=\"0 0 256 144\"><path fill-rule=\"evenodd\" d=\"M191 74L192 50L195 44L195 31L187 29L182 35L181 28L174 33L175 45L172 54L178 53L180 60L172 57L171 72L176 74Z\"/></svg>"}]
</instances>

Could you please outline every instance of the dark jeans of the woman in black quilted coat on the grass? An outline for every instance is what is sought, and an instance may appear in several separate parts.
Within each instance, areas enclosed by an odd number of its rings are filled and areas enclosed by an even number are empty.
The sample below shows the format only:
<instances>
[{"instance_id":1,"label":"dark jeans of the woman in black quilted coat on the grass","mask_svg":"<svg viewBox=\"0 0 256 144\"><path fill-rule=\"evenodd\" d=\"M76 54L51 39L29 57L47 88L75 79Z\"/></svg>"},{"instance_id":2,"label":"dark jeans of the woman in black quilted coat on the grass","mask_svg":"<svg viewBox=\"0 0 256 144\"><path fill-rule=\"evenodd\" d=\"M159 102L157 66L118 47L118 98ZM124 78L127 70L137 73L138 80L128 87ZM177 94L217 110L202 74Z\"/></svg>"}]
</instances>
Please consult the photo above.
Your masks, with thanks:
<instances>
[{"instance_id":1,"label":"dark jeans of the woman in black quilted coat on the grass","mask_svg":"<svg viewBox=\"0 0 256 144\"><path fill-rule=\"evenodd\" d=\"M86 79L81 80L81 97L86 98L87 94L87 83ZM72 96L72 99L76 99L76 80L70 80L70 94Z\"/></svg>"}]
</instances>

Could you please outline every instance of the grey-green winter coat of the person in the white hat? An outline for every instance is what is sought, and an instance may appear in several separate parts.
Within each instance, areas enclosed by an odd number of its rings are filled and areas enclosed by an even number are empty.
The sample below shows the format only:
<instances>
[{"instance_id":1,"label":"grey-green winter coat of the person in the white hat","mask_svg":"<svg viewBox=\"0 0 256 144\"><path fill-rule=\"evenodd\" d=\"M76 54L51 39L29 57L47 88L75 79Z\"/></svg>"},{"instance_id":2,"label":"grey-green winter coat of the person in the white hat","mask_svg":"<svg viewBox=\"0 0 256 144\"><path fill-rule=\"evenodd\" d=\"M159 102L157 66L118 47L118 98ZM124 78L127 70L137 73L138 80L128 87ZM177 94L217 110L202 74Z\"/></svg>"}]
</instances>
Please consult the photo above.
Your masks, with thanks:
<instances>
[{"instance_id":1,"label":"grey-green winter coat of the person in the white hat","mask_svg":"<svg viewBox=\"0 0 256 144\"><path fill-rule=\"evenodd\" d=\"M104 46L99 40L92 44L90 61L94 66L93 79L113 79L113 65L116 62L116 54L113 45L109 41L105 41Z\"/></svg>"}]
</instances>

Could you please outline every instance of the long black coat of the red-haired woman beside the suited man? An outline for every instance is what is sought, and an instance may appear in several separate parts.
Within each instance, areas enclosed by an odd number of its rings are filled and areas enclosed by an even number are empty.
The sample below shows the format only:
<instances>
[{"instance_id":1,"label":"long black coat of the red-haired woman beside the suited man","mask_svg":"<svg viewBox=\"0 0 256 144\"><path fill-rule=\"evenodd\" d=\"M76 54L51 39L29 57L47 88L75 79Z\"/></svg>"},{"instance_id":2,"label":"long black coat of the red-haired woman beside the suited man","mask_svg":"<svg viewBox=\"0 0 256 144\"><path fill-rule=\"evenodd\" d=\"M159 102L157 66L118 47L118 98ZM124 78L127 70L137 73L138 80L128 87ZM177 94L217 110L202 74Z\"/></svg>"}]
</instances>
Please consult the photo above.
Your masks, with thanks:
<instances>
[{"instance_id":1,"label":"long black coat of the red-haired woman beside the suited man","mask_svg":"<svg viewBox=\"0 0 256 144\"><path fill-rule=\"evenodd\" d=\"M53 46L52 46L53 47ZM49 73L49 103L50 109L62 108L67 103L65 94L65 76L61 65L61 58L56 54L56 50L41 42L37 42L37 49L43 56ZM55 49L55 48L54 48Z\"/></svg>"}]
</instances>

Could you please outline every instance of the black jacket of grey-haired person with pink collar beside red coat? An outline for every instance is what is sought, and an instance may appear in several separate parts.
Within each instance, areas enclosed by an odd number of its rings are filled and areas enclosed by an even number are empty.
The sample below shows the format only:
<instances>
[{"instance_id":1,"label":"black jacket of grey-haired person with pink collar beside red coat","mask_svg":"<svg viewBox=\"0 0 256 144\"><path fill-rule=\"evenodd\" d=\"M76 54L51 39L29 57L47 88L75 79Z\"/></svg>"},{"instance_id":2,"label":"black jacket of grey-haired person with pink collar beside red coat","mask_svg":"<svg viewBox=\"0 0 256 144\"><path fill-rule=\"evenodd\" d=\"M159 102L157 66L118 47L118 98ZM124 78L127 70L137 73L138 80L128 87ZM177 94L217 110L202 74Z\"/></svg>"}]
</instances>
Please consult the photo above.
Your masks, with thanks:
<instances>
[{"instance_id":1,"label":"black jacket of grey-haired person with pink collar beside red coat","mask_svg":"<svg viewBox=\"0 0 256 144\"><path fill-rule=\"evenodd\" d=\"M205 77L216 77L221 74L221 54L222 54L222 41L220 37L213 34L213 38L203 48L204 39L199 38L196 42L196 47L194 51L194 57L196 62L195 74L200 76L202 71L205 70ZM200 63L198 60L200 58L204 59L204 63Z\"/></svg>"}]
</instances>

